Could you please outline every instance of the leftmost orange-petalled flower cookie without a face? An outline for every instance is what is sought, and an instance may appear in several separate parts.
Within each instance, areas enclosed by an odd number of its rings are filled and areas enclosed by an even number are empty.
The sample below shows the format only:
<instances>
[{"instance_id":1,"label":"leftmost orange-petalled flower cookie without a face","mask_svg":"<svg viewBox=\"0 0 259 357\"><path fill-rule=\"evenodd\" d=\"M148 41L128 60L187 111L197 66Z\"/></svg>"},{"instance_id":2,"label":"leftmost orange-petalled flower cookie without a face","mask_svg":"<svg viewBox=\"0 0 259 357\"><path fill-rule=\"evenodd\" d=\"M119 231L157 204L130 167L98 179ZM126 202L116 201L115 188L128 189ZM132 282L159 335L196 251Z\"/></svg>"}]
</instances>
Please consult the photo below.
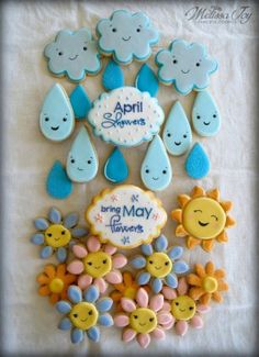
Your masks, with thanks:
<instances>
[{"instance_id":1,"label":"leftmost orange-petalled flower cookie without a face","mask_svg":"<svg viewBox=\"0 0 259 357\"><path fill-rule=\"evenodd\" d=\"M77 277L67 272L66 268L66 264L58 266L48 264L44 267L44 271L37 276L40 295L48 295L52 303L67 299L67 290L70 285L76 282Z\"/></svg>"}]
</instances>

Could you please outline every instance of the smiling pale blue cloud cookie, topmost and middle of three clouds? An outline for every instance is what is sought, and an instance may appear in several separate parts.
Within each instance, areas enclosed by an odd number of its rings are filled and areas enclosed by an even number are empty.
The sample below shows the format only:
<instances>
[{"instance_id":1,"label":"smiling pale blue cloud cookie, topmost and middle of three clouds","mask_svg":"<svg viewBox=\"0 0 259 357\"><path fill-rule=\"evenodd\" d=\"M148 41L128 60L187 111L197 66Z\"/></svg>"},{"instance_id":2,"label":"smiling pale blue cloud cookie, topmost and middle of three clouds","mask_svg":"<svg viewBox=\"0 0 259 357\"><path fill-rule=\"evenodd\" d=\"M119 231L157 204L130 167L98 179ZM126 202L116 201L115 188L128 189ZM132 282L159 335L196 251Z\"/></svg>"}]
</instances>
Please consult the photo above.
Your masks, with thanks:
<instances>
[{"instance_id":1,"label":"smiling pale blue cloud cookie, topmost and middle of three clouds","mask_svg":"<svg viewBox=\"0 0 259 357\"><path fill-rule=\"evenodd\" d=\"M146 60L151 54L151 45L159 40L146 14L127 10L114 11L110 19L99 21L97 34L100 52L113 55L122 65L133 59Z\"/></svg>"}]
</instances>

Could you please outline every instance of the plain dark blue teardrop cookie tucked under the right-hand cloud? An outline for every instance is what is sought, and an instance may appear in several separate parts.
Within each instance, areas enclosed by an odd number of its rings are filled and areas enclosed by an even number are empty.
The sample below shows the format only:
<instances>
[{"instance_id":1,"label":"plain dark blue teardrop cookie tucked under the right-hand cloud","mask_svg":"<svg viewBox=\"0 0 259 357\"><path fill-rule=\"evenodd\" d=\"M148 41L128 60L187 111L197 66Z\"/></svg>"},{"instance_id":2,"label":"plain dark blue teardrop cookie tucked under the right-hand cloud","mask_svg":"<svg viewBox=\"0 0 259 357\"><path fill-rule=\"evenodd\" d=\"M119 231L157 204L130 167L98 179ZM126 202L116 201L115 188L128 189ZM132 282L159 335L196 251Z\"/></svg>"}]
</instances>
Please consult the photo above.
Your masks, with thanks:
<instances>
[{"instance_id":1,"label":"plain dark blue teardrop cookie tucked under the right-hand cloud","mask_svg":"<svg viewBox=\"0 0 259 357\"><path fill-rule=\"evenodd\" d=\"M158 80L156 75L147 64L144 64L139 69L136 77L135 86L140 91L147 91L151 97L156 97L159 87Z\"/></svg>"}]
</instances>

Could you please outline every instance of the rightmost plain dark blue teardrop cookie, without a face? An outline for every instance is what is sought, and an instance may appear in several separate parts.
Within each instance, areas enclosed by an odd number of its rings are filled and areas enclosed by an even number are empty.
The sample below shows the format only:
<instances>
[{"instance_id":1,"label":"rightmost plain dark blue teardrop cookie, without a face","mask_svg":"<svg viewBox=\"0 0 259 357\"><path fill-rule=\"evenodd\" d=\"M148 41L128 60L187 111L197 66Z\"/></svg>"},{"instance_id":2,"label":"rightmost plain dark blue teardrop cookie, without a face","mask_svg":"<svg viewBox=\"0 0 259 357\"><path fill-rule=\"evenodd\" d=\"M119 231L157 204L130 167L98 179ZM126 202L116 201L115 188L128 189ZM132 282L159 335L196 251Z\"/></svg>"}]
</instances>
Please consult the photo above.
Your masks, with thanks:
<instances>
[{"instance_id":1,"label":"rightmost plain dark blue teardrop cookie, without a face","mask_svg":"<svg viewBox=\"0 0 259 357\"><path fill-rule=\"evenodd\" d=\"M199 143L195 143L189 153L184 164L188 176L194 179L201 179L209 174L210 166L210 159L203 146Z\"/></svg>"}]
</instances>

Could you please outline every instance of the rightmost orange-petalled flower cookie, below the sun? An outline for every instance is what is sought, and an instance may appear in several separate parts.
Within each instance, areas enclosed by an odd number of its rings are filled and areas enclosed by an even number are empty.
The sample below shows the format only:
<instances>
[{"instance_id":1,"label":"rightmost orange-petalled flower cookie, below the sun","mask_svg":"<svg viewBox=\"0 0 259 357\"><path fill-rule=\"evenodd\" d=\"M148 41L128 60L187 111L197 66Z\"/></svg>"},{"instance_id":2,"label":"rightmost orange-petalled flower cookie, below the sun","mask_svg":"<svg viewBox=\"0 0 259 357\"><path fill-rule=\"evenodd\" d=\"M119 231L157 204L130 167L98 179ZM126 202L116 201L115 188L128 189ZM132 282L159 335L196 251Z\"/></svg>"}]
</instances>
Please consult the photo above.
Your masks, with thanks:
<instances>
[{"instance_id":1,"label":"rightmost orange-petalled flower cookie, below the sun","mask_svg":"<svg viewBox=\"0 0 259 357\"><path fill-rule=\"evenodd\" d=\"M191 286L190 297L199 300L202 304L206 305L211 299L216 302L222 302L222 291L228 290L227 282L223 279L225 277L224 269L215 270L212 261L207 261L205 267L201 264L195 264L194 274L187 277L187 281Z\"/></svg>"}]
</instances>

